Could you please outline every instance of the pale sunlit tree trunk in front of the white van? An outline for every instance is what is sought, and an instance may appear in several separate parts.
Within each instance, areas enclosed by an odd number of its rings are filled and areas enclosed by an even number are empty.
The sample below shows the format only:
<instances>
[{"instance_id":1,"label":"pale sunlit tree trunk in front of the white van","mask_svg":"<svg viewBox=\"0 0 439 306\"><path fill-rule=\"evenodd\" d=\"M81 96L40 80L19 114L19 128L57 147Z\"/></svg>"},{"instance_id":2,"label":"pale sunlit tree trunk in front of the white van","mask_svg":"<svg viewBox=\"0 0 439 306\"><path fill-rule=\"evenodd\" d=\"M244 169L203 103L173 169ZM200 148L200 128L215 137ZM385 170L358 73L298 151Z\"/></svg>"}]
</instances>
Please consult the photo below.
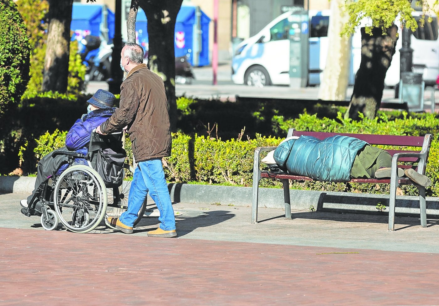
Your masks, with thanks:
<instances>
[{"instance_id":1,"label":"pale sunlit tree trunk in front of the white van","mask_svg":"<svg viewBox=\"0 0 439 306\"><path fill-rule=\"evenodd\" d=\"M342 101L346 99L346 89L349 82L349 67L351 57L351 39L340 37L344 24L349 20L349 14L340 7L345 0L331 1L331 16L329 19L328 40L331 47L328 50L323 79L320 84L318 97L321 100Z\"/></svg>"}]
</instances>

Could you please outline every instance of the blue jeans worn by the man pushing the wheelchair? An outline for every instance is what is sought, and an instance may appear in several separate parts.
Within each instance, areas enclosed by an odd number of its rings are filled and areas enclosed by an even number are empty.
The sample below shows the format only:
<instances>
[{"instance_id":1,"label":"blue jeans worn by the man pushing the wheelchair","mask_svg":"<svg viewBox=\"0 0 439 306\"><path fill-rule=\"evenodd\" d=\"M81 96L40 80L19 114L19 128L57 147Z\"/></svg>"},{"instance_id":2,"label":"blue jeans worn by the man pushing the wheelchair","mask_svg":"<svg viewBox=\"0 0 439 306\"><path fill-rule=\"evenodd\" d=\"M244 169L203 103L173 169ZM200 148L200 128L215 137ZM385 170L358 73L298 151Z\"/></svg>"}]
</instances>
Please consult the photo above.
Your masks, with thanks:
<instances>
[{"instance_id":1,"label":"blue jeans worn by the man pushing the wheelchair","mask_svg":"<svg viewBox=\"0 0 439 306\"><path fill-rule=\"evenodd\" d=\"M164 231L175 230L174 210L161 158L152 158L137 164L128 197L128 210L120 215L119 220L127 226L133 226L148 192L160 212L160 228Z\"/></svg>"}]
</instances>

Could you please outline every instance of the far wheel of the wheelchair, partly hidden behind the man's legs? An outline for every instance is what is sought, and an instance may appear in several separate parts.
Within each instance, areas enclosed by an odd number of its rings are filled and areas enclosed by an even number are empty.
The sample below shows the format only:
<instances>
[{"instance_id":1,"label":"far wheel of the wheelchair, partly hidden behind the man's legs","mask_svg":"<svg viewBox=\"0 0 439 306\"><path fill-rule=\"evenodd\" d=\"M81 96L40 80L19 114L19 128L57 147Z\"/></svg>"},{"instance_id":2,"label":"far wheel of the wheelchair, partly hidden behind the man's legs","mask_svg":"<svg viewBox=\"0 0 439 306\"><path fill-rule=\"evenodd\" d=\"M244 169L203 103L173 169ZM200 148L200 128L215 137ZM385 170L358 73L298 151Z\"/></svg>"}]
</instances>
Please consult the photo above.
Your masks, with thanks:
<instances>
[{"instance_id":1,"label":"far wheel of the wheelchair, partly hidden behind the man's legs","mask_svg":"<svg viewBox=\"0 0 439 306\"><path fill-rule=\"evenodd\" d=\"M126 170L126 169L125 169ZM107 189L107 212L105 213L105 218L107 217L120 217L120 215L128 208L128 196L130 193L131 181L123 181L122 185L118 188L108 188ZM137 219L134 221L134 226L142 220L145 213L146 201L140 207L139 213L137 214Z\"/></svg>"}]
</instances>

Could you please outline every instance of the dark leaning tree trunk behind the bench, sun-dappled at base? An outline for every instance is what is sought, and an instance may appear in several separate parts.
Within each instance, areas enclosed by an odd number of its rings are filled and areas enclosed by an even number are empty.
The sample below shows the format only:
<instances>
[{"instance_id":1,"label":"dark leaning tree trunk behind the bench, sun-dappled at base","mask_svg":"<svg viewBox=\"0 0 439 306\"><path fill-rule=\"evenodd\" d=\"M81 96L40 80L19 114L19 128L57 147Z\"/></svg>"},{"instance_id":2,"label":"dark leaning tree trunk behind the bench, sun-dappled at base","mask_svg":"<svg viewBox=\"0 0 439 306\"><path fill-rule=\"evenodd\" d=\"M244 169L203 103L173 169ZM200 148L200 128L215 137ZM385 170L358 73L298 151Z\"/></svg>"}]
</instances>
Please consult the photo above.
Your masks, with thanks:
<instances>
[{"instance_id":1,"label":"dark leaning tree trunk behind the bench, sun-dappled at base","mask_svg":"<svg viewBox=\"0 0 439 306\"><path fill-rule=\"evenodd\" d=\"M381 28L373 28L372 35L361 28L361 63L355 76L355 85L345 118L358 120L358 113L373 119L381 104L384 78L395 54L398 27L392 25L387 35Z\"/></svg>"}]
</instances>

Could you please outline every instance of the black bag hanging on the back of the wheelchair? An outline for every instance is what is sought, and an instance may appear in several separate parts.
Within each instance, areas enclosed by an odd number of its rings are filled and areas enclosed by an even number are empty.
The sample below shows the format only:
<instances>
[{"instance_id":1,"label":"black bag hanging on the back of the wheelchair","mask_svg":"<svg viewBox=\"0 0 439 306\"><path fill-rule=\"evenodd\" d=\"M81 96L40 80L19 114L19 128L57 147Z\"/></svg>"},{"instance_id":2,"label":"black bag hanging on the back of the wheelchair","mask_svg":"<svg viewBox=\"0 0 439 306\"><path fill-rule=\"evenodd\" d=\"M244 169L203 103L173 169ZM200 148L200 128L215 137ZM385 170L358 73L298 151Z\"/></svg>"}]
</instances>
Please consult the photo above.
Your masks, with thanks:
<instances>
[{"instance_id":1,"label":"black bag hanging on the back of the wheelchair","mask_svg":"<svg viewBox=\"0 0 439 306\"><path fill-rule=\"evenodd\" d=\"M100 135L92 133L88 154L94 170L104 180L107 188L122 185L126 152L122 148L121 134Z\"/></svg>"}]
</instances>

